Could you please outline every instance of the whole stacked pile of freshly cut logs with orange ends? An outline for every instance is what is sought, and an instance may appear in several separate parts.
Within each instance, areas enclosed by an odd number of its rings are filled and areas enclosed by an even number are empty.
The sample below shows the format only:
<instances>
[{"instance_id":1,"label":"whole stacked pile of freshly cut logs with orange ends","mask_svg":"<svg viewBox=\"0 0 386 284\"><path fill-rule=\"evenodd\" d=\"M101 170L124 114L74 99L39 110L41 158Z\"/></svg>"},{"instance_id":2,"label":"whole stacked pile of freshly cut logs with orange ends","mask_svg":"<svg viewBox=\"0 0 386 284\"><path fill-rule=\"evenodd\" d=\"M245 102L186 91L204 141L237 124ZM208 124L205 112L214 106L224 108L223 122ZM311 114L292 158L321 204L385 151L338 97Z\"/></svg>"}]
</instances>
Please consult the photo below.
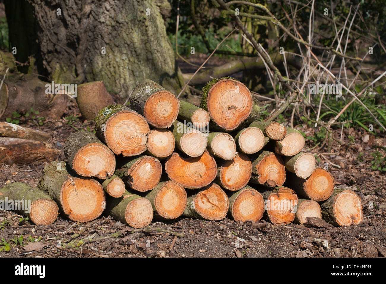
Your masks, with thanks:
<instances>
[{"instance_id":1,"label":"whole stacked pile of freshly cut logs with orange ends","mask_svg":"<svg viewBox=\"0 0 386 284\"><path fill-rule=\"evenodd\" d=\"M259 103L244 84L214 79L202 95L200 108L144 80L132 93L131 109L116 104L101 109L97 135L72 134L64 145L67 162L46 165L39 183L44 193L14 184L47 211L46 218L32 221L52 223L59 211L86 222L104 211L134 228L179 216L361 223L359 197L334 190L331 173L302 152L299 131L275 117L259 121ZM6 196L22 199L4 187L0 201Z\"/></svg>"}]
</instances>

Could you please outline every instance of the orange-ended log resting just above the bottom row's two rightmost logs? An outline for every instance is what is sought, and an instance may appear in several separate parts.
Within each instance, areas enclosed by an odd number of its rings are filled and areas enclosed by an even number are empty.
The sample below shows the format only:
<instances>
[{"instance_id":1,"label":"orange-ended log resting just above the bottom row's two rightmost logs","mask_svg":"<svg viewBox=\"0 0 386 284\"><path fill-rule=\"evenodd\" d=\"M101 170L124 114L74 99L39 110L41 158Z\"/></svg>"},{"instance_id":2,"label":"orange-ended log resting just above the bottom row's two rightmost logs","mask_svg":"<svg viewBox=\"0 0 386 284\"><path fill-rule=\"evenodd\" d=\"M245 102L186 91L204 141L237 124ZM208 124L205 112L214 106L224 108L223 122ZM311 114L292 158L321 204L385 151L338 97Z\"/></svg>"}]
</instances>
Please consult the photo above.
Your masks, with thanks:
<instances>
[{"instance_id":1,"label":"orange-ended log resting just above the bottom row's two rightmost logs","mask_svg":"<svg viewBox=\"0 0 386 284\"><path fill-rule=\"evenodd\" d=\"M301 179L294 173L288 173L286 185L301 197L315 201L328 199L334 190L334 177L323 168L315 168L307 179Z\"/></svg>"}]
</instances>

